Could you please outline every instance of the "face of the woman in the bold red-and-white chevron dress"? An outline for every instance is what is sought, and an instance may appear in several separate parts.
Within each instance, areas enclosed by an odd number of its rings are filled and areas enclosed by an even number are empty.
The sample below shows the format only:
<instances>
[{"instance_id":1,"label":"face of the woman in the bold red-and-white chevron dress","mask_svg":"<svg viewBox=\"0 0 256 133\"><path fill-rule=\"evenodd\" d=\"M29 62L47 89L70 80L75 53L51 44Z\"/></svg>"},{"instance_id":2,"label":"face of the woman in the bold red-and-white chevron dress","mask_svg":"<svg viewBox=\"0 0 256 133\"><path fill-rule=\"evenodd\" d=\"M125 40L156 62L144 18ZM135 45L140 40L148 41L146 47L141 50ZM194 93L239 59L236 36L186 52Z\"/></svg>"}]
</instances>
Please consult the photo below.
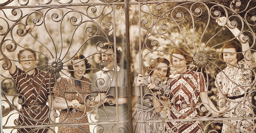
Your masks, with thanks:
<instances>
[{"instance_id":1,"label":"face of the woman in the bold red-and-white chevron dress","mask_svg":"<svg viewBox=\"0 0 256 133\"><path fill-rule=\"evenodd\" d=\"M185 57L181 54L173 54L172 56L172 64L178 73L184 73L187 71L187 62L188 61L186 61Z\"/></svg>"}]
</instances>

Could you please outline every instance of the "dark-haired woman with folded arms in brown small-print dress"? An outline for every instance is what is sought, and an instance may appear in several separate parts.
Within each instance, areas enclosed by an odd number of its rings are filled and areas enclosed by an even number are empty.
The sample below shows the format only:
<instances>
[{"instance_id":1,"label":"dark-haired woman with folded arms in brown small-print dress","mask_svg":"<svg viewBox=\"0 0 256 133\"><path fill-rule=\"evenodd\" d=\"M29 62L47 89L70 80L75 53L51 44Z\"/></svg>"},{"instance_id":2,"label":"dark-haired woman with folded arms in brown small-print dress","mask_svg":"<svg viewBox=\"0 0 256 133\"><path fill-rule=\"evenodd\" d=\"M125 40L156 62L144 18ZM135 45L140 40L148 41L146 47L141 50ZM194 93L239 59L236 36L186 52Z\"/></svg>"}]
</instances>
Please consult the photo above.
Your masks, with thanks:
<instances>
[{"instance_id":1,"label":"dark-haired woman with folded arms in brown small-print dress","mask_svg":"<svg viewBox=\"0 0 256 133\"><path fill-rule=\"evenodd\" d=\"M57 79L53 88L53 107L61 110L59 123L88 123L85 111L88 109L86 108L86 103L89 101L85 99L87 94L81 92L90 91L91 80L84 77L84 74L90 72L90 68L91 64L84 55L76 54L68 63L70 75ZM59 133L68 133L70 131L84 133L90 132L90 128L89 125L58 127Z\"/></svg>"}]
</instances>

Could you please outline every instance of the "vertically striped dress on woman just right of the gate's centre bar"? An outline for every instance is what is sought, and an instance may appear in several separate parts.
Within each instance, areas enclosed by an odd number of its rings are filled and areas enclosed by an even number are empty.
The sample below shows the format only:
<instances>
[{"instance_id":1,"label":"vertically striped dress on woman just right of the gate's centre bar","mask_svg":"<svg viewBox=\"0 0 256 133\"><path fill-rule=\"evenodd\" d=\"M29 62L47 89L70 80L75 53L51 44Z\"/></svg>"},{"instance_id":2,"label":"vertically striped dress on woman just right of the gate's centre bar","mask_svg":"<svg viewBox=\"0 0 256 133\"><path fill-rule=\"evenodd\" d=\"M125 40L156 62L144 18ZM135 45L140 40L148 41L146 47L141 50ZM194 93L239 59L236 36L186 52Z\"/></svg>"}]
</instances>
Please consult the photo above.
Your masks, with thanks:
<instances>
[{"instance_id":1,"label":"vertically striped dress on woman just right of the gate's centre bar","mask_svg":"<svg viewBox=\"0 0 256 133\"><path fill-rule=\"evenodd\" d=\"M137 83L137 78L134 78L133 86ZM147 85L147 83L152 83L150 76L143 77L143 84ZM149 101L147 101L149 99ZM146 102L147 101L147 102ZM162 119L160 113L154 112L154 106L152 101L152 95L145 95L143 97L143 115L141 111L141 97L138 97L138 102L135 105L134 111L132 113L133 120L140 120L144 117L144 120L160 120ZM159 127L159 123L157 122L148 122L148 123L137 123L132 122L133 132L140 133L140 131L145 131L145 133L164 133L164 131L160 131L157 127ZM163 125L162 125L163 126Z\"/></svg>"}]
</instances>

